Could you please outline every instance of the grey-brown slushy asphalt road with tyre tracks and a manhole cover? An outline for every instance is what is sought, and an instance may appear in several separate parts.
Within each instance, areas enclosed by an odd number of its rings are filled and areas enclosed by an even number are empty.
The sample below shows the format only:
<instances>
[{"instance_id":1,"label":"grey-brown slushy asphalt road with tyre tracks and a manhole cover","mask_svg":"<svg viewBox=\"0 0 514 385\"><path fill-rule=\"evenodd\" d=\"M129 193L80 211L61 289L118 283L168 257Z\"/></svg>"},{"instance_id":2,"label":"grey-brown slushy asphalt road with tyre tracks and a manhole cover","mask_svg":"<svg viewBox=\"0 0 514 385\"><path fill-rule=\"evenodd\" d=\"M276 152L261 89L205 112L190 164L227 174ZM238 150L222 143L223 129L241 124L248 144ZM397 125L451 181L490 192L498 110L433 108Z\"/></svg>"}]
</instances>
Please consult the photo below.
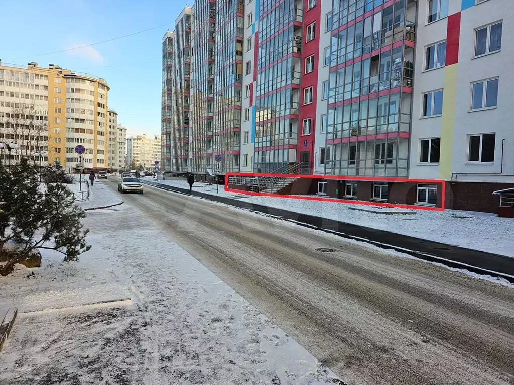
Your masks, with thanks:
<instances>
[{"instance_id":1,"label":"grey-brown slushy asphalt road with tyre tracks and a manhole cover","mask_svg":"<svg viewBox=\"0 0 514 385\"><path fill-rule=\"evenodd\" d=\"M514 384L514 289L152 187L123 198L348 384Z\"/></svg>"}]
</instances>

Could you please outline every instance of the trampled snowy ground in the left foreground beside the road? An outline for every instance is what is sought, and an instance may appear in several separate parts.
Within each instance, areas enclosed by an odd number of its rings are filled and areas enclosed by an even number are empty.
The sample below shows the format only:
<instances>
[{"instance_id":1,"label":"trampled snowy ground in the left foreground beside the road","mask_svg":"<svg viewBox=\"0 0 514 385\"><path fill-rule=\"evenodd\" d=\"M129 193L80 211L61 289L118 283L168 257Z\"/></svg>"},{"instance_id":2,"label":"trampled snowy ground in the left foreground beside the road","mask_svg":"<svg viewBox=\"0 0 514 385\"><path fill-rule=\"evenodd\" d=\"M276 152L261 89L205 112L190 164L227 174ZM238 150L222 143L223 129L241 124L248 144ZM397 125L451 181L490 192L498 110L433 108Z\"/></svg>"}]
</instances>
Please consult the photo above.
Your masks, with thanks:
<instances>
[{"instance_id":1,"label":"trampled snowy ground in the left foreground beside the road","mask_svg":"<svg viewBox=\"0 0 514 385\"><path fill-rule=\"evenodd\" d=\"M166 224L123 204L85 226L80 262L43 251L41 268L0 279L0 308L19 309L1 384L342 384Z\"/></svg>"}]
</instances>

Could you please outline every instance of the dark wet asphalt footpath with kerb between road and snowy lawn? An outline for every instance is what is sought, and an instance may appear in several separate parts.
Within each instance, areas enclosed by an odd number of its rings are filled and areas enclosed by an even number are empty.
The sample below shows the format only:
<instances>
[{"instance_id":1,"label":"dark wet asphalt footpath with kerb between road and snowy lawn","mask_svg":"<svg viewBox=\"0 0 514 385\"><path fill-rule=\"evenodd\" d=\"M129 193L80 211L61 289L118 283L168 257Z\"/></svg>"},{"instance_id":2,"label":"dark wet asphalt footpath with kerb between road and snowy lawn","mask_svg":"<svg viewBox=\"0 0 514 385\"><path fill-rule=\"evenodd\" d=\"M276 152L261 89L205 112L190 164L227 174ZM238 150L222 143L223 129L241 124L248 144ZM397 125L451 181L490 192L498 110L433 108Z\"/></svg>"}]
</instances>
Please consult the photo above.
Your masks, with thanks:
<instances>
[{"instance_id":1,"label":"dark wet asphalt footpath with kerb between road and snowy lawn","mask_svg":"<svg viewBox=\"0 0 514 385\"><path fill-rule=\"evenodd\" d=\"M296 213L295 211L289 211L282 208L265 206L227 197L219 197L216 195L205 194L204 192L190 192L183 188L155 182L146 182L145 184L182 195L189 195L196 198L203 198L209 201L243 208L268 217L296 223L304 227L314 228L325 233L335 234L342 238L371 243L383 249L392 249L399 253L408 254L425 261L440 263L448 267L466 269L476 274L501 277L511 283L514 283L514 259L504 255L430 241L427 239L397 234L387 230L379 230L372 227L341 222L324 217Z\"/></svg>"}]
</instances>

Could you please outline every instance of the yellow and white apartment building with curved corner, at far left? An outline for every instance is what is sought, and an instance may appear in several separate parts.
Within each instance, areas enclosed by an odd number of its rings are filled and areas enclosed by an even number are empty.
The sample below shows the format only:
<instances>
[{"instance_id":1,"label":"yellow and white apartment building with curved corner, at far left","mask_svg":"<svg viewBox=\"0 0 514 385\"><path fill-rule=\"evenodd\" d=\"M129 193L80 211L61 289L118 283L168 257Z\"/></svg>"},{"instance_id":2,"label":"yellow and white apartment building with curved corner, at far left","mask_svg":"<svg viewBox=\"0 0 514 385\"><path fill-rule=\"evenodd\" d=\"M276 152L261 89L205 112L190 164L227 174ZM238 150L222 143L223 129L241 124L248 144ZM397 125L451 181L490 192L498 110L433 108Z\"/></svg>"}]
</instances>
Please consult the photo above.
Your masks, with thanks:
<instances>
[{"instance_id":1,"label":"yellow and white apartment building with curved corner, at far left","mask_svg":"<svg viewBox=\"0 0 514 385\"><path fill-rule=\"evenodd\" d=\"M20 147L11 162L26 156L71 170L79 163L75 147L80 144L86 168L106 169L108 90L104 79L57 65L0 62L0 141ZM7 153L0 158L7 160Z\"/></svg>"}]
</instances>

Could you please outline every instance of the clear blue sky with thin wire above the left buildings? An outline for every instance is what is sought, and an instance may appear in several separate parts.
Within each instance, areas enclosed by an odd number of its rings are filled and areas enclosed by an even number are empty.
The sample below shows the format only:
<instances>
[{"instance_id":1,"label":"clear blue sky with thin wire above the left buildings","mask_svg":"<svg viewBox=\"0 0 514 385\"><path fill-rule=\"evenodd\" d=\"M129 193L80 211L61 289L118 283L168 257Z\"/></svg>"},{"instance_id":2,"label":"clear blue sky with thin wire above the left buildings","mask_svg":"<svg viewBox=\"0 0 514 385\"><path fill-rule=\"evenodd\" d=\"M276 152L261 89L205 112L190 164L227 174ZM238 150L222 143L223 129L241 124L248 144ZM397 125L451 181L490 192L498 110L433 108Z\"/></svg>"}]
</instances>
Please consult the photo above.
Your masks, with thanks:
<instances>
[{"instance_id":1,"label":"clear blue sky with thin wire above the left buildings","mask_svg":"<svg viewBox=\"0 0 514 385\"><path fill-rule=\"evenodd\" d=\"M192 1L190 2L192 3ZM160 134L161 43L184 0L24 0L2 4L2 63L49 63L104 78L129 135ZM40 55L101 42L66 52Z\"/></svg>"}]
</instances>

